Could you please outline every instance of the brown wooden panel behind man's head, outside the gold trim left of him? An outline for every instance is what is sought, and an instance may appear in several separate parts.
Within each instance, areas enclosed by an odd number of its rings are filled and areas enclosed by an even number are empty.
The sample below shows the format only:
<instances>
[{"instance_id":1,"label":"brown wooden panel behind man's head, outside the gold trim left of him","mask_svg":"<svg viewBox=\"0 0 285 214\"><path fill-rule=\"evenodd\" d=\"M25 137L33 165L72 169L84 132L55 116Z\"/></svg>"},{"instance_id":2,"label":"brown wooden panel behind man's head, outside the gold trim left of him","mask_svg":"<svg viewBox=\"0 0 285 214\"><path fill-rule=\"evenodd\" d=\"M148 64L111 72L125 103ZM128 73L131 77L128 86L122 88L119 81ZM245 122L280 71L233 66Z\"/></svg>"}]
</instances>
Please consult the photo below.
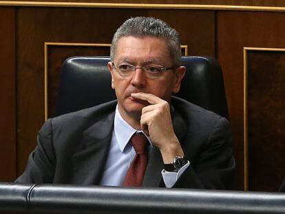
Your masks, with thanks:
<instances>
[{"instance_id":1,"label":"brown wooden panel behind man's head, outside the gold trim left of him","mask_svg":"<svg viewBox=\"0 0 285 214\"><path fill-rule=\"evenodd\" d=\"M151 9L19 8L17 13L18 174L44 122L44 43L110 43L129 17L154 16L181 34L189 54L215 56L215 12ZM67 50L65 50L67 51ZM55 77L52 77L55 78ZM50 79L49 81L55 81Z\"/></svg>"}]
</instances>

